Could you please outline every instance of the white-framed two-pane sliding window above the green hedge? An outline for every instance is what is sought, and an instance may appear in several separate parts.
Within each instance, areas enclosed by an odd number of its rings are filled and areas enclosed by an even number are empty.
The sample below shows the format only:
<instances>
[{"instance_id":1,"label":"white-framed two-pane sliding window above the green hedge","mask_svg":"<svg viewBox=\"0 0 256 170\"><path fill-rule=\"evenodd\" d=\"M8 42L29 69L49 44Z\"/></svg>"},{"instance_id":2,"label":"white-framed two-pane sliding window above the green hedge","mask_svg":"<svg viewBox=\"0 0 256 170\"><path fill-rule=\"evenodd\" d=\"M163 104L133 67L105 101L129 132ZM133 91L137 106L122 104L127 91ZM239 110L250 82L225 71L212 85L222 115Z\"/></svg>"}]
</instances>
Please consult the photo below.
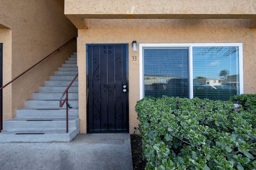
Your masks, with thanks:
<instances>
[{"instance_id":1,"label":"white-framed two-pane sliding window above the green hedge","mask_svg":"<svg viewBox=\"0 0 256 170\"><path fill-rule=\"evenodd\" d=\"M227 100L243 93L243 44L139 44L139 80L140 99Z\"/></svg>"}]
</instances>

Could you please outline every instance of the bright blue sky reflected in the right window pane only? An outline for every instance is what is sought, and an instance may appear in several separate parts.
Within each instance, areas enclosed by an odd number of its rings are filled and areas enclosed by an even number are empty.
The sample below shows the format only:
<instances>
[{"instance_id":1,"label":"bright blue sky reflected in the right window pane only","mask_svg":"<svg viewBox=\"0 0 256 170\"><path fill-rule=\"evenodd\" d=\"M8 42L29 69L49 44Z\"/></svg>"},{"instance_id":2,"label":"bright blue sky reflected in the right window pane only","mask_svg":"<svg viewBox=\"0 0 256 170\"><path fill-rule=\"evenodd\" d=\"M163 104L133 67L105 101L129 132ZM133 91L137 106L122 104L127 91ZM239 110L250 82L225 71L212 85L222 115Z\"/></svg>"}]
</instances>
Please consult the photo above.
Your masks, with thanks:
<instances>
[{"instance_id":1,"label":"bright blue sky reflected in the right window pane only","mask_svg":"<svg viewBox=\"0 0 256 170\"><path fill-rule=\"evenodd\" d=\"M193 79L218 79L222 70L227 75L239 74L238 47L193 47Z\"/></svg>"}]
</instances>

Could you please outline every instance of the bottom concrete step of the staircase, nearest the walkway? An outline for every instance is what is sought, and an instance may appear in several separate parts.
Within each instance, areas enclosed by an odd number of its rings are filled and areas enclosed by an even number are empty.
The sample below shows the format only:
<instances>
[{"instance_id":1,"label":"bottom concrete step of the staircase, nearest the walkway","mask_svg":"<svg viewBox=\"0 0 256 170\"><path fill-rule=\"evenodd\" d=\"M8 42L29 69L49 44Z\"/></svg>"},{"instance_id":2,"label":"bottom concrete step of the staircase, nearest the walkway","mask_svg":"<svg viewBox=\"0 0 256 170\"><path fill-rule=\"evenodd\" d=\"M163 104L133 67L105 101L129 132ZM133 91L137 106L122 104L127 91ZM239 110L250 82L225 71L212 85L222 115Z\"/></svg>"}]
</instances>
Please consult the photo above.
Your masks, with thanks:
<instances>
[{"instance_id":1,"label":"bottom concrete step of the staircase, nearest the walkway","mask_svg":"<svg viewBox=\"0 0 256 170\"><path fill-rule=\"evenodd\" d=\"M18 134L17 134L18 133ZM23 133L23 134L19 134ZM34 133L34 134L24 134ZM44 134L35 134L44 133ZM12 129L3 130L0 133L0 143L10 142L70 142L79 133L79 126L76 129L69 128L69 132L66 133L66 129ZM16 135L17 134L17 135Z\"/></svg>"}]
</instances>

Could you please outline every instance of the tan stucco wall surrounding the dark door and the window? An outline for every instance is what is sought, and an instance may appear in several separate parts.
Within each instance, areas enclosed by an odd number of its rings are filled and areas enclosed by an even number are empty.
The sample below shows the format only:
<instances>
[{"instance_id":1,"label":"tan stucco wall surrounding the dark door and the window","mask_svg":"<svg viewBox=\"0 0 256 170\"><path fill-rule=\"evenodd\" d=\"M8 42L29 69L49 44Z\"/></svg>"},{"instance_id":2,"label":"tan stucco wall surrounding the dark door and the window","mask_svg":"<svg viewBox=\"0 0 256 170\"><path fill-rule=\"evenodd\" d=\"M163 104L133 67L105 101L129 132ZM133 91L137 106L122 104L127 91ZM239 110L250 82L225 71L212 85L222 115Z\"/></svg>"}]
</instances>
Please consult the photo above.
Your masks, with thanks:
<instances>
[{"instance_id":1,"label":"tan stucco wall surrounding the dark door and the window","mask_svg":"<svg viewBox=\"0 0 256 170\"><path fill-rule=\"evenodd\" d=\"M137 43L242 42L244 93L256 93L256 30L247 28L248 20L164 19L101 20L90 19L89 29L78 29L80 132L86 132L86 44L129 43L129 122L130 133L137 127L134 111L139 100L139 51Z\"/></svg>"}]
</instances>

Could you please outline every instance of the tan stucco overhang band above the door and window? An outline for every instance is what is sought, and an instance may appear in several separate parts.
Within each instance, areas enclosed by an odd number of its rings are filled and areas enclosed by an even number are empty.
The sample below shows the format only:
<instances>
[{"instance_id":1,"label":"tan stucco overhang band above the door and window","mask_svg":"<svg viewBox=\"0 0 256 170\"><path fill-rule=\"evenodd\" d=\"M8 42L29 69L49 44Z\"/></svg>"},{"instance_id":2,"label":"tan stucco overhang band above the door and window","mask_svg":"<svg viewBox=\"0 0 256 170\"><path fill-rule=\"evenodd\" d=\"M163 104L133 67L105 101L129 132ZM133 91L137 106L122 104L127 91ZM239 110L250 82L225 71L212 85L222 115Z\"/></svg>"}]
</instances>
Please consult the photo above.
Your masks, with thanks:
<instances>
[{"instance_id":1,"label":"tan stucco overhang band above the door and window","mask_svg":"<svg viewBox=\"0 0 256 170\"><path fill-rule=\"evenodd\" d=\"M65 14L72 21L125 19L132 7L132 19L256 18L254 0L65 0Z\"/></svg>"}]
</instances>

